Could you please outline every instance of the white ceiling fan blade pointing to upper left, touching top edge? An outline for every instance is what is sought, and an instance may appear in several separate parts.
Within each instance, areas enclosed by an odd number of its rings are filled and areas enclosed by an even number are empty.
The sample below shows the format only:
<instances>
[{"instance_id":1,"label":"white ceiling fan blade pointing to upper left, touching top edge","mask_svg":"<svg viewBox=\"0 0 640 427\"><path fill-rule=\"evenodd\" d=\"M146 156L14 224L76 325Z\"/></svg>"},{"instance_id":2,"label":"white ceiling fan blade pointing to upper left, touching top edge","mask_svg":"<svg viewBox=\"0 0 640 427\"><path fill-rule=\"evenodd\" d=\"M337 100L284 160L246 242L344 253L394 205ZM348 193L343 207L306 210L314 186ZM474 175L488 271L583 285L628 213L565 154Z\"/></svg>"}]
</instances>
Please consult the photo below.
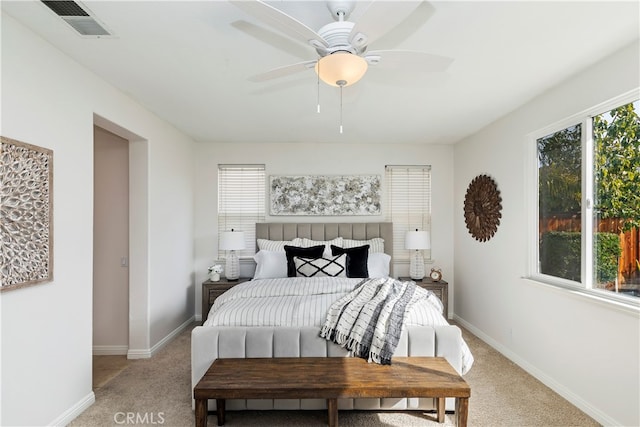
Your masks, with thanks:
<instances>
[{"instance_id":1,"label":"white ceiling fan blade pointing to upper left, touching top edge","mask_svg":"<svg viewBox=\"0 0 640 427\"><path fill-rule=\"evenodd\" d=\"M230 0L230 3L260 21L271 25L276 30L281 31L296 40L300 40L303 43L308 43L314 48L326 48L329 46L327 41L318 33L273 6L259 0Z\"/></svg>"}]
</instances>

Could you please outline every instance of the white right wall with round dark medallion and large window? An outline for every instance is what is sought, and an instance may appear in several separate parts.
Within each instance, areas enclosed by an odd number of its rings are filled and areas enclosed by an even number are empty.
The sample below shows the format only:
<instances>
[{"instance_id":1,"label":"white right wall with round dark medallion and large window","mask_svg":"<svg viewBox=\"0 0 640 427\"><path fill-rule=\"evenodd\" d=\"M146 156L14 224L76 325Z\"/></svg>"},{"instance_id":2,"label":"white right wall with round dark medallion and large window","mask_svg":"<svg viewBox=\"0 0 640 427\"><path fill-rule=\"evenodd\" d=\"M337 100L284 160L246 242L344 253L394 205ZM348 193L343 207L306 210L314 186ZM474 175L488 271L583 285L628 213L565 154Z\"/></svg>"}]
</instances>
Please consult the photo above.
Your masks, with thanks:
<instances>
[{"instance_id":1,"label":"white right wall with round dark medallion and large window","mask_svg":"<svg viewBox=\"0 0 640 427\"><path fill-rule=\"evenodd\" d=\"M635 43L532 100L455 147L456 318L606 425L640 425L640 321L527 273L527 135L640 87ZM487 173L502 222L486 243L468 233L467 186ZM526 398L526 397L525 397Z\"/></svg>"}]
</instances>

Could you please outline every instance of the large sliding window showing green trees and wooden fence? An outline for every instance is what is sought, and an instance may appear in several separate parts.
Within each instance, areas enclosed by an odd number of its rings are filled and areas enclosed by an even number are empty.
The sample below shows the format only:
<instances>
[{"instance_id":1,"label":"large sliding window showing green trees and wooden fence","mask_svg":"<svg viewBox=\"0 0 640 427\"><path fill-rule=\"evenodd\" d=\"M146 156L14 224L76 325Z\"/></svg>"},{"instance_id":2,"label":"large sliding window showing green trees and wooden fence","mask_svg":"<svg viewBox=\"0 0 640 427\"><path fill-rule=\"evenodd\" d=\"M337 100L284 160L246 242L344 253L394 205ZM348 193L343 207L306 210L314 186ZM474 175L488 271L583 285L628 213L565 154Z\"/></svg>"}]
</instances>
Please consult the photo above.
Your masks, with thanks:
<instances>
[{"instance_id":1,"label":"large sliding window showing green trees and wooden fence","mask_svg":"<svg viewBox=\"0 0 640 427\"><path fill-rule=\"evenodd\" d=\"M636 100L594 109L535 136L534 276L637 302L639 104Z\"/></svg>"}]
</instances>

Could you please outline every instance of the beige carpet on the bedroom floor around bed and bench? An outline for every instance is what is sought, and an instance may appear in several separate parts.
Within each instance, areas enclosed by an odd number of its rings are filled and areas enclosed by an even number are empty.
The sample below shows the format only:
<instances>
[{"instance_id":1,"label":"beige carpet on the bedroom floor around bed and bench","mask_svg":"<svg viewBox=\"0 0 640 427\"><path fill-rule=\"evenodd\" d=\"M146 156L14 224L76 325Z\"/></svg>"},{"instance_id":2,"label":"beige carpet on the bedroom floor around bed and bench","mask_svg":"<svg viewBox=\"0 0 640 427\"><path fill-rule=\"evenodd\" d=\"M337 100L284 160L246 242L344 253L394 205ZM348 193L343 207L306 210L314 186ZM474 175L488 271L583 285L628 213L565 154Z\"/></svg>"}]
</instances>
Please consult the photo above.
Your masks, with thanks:
<instances>
[{"instance_id":1,"label":"beige carpet on the bedroom floor around bed and bench","mask_svg":"<svg viewBox=\"0 0 640 427\"><path fill-rule=\"evenodd\" d=\"M194 324L195 326L195 324ZM465 380L471 386L470 426L598 426L593 419L462 329L475 363ZM135 360L95 390L96 403L70 426L193 426L190 376L191 328L151 359ZM455 426L453 414L438 424L421 412L340 411L342 427ZM127 422L129 417L131 422ZM325 411L228 411L226 425L326 426ZM209 426L217 425L209 415Z\"/></svg>"}]
</instances>

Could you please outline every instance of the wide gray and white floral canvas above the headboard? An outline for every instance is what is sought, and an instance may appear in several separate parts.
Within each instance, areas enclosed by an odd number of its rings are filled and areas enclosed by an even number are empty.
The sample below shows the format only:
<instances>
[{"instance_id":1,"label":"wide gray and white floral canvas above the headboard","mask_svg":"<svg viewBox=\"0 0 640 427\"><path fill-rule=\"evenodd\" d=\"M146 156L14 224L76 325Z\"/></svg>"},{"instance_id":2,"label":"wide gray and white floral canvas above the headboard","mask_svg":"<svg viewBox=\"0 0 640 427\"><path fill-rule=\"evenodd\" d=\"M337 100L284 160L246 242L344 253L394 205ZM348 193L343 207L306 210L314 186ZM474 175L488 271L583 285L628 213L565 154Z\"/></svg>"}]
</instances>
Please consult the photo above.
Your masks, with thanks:
<instances>
[{"instance_id":1,"label":"wide gray and white floral canvas above the headboard","mask_svg":"<svg viewBox=\"0 0 640 427\"><path fill-rule=\"evenodd\" d=\"M271 215L380 215L380 176L271 176Z\"/></svg>"}]
</instances>

